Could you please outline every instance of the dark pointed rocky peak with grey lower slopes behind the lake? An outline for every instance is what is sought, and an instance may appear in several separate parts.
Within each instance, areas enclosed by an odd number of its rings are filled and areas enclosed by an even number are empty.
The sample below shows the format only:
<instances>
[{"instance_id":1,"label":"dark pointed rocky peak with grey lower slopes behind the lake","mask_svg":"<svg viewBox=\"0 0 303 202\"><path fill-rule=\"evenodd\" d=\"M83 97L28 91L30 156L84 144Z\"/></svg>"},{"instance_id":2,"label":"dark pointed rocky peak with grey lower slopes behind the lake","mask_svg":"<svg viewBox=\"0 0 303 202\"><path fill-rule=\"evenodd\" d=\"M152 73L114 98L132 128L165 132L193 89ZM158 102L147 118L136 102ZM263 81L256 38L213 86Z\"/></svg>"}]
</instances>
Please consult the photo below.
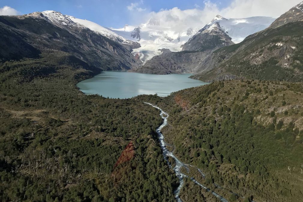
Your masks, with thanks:
<instances>
[{"instance_id":1,"label":"dark pointed rocky peak with grey lower slopes behind the lake","mask_svg":"<svg viewBox=\"0 0 303 202\"><path fill-rule=\"evenodd\" d=\"M231 37L228 36L225 29L220 26L219 22L215 22L205 26L191 37L182 45L181 52L162 49L161 55L153 57L146 61L143 67L132 69L132 71L153 74L200 72L200 64L215 50L233 44L234 42L231 41Z\"/></svg>"}]
</instances>

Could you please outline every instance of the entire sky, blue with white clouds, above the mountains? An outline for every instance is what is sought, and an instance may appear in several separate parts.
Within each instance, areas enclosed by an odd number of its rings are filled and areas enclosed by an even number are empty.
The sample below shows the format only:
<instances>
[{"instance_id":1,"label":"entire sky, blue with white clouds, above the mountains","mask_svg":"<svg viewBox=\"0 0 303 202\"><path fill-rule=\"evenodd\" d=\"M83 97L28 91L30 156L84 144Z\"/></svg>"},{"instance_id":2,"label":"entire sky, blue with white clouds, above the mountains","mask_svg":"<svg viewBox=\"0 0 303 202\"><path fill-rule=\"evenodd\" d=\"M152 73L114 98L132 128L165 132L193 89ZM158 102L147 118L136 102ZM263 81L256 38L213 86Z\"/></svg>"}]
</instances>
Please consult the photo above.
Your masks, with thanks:
<instances>
[{"instance_id":1,"label":"entire sky, blue with white clouds, above the mountains","mask_svg":"<svg viewBox=\"0 0 303 202\"><path fill-rule=\"evenodd\" d=\"M109 28L138 26L151 17L169 26L198 23L216 15L225 18L278 17L302 0L1 0L0 15L55 10Z\"/></svg>"}]
</instances>

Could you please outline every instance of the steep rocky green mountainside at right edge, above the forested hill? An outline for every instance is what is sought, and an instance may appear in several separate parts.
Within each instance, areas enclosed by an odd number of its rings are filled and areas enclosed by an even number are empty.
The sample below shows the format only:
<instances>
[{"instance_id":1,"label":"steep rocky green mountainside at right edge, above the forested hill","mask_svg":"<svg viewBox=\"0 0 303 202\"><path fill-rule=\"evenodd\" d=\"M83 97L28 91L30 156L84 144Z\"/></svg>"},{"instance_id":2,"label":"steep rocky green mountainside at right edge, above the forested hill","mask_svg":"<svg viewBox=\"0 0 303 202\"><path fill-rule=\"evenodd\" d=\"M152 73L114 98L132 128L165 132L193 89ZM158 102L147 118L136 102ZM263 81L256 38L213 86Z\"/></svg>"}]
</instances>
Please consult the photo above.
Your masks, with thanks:
<instances>
[{"instance_id":1,"label":"steep rocky green mountainside at right edge, above the forested hill","mask_svg":"<svg viewBox=\"0 0 303 202\"><path fill-rule=\"evenodd\" d=\"M208 72L192 78L204 81L245 78L301 81L303 13L299 10L301 7L297 7L243 42L215 51L204 64Z\"/></svg>"}]
</instances>

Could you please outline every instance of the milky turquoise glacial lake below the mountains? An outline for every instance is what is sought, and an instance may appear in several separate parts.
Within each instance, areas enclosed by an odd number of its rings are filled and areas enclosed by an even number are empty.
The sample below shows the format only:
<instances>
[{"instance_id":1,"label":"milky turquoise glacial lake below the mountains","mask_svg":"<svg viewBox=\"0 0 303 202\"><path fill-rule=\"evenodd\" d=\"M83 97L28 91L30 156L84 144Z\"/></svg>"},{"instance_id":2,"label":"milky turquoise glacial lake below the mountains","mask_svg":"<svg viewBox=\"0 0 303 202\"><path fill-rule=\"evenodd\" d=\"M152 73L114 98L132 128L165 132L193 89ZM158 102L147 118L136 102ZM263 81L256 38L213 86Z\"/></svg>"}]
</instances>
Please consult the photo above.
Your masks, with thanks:
<instances>
[{"instance_id":1,"label":"milky turquoise glacial lake below the mountains","mask_svg":"<svg viewBox=\"0 0 303 202\"><path fill-rule=\"evenodd\" d=\"M143 94L168 96L185 88L207 83L188 78L192 74L154 75L122 71L105 71L77 84L85 94L99 94L109 98L131 98Z\"/></svg>"}]
</instances>

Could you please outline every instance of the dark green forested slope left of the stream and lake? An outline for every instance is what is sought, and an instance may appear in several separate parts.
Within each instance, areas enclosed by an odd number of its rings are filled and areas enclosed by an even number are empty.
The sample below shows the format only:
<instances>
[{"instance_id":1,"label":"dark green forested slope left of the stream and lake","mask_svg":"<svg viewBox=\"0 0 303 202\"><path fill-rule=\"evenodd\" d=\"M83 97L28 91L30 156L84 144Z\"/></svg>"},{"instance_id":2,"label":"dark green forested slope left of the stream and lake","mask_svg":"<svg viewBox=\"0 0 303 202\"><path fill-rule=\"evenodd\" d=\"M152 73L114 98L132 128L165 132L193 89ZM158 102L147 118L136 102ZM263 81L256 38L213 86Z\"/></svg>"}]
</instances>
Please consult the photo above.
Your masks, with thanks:
<instances>
[{"instance_id":1,"label":"dark green forested slope left of the stream and lake","mask_svg":"<svg viewBox=\"0 0 303 202\"><path fill-rule=\"evenodd\" d=\"M63 53L0 65L0 201L174 201L158 112L83 95L86 68Z\"/></svg>"}]
</instances>

